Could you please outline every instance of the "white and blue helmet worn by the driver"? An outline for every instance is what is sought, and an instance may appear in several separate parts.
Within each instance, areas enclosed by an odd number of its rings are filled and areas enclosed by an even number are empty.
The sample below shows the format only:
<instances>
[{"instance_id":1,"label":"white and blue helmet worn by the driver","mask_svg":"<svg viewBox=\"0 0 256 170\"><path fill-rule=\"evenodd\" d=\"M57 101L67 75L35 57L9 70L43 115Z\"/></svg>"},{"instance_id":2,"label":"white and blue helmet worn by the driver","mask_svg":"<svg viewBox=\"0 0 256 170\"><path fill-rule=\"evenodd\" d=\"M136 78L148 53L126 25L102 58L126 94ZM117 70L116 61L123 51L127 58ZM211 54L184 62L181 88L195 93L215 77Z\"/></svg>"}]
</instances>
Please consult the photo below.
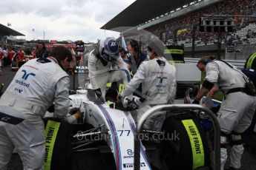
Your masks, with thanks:
<instances>
[{"instance_id":1,"label":"white and blue helmet worn by the driver","mask_svg":"<svg viewBox=\"0 0 256 170\"><path fill-rule=\"evenodd\" d=\"M107 37L99 42L99 52L105 61L114 61L118 57L119 47L115 38Z\"/></svg>"}]
</instances>

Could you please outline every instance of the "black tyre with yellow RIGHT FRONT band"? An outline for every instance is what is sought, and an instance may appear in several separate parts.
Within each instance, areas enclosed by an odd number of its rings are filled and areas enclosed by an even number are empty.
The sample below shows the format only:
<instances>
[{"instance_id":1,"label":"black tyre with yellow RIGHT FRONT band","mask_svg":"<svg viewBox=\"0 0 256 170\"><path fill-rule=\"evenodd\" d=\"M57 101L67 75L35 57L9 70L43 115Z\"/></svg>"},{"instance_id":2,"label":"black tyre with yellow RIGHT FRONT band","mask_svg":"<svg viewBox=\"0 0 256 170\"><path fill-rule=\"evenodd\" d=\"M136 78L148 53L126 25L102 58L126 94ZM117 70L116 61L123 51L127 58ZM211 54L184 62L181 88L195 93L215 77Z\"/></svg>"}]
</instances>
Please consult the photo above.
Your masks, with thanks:
<instances>
[{"instance_id":1,"label":"black tyre with yellow RIGHT FRONT band","mask_svg":"<svg viewBox=\"0 0 256 170\"><path fill-rule=\"evenodd\" d=\"M69 123L45 119L45 170L72 169L71 134Z\"/></svg>"}]
</instances>

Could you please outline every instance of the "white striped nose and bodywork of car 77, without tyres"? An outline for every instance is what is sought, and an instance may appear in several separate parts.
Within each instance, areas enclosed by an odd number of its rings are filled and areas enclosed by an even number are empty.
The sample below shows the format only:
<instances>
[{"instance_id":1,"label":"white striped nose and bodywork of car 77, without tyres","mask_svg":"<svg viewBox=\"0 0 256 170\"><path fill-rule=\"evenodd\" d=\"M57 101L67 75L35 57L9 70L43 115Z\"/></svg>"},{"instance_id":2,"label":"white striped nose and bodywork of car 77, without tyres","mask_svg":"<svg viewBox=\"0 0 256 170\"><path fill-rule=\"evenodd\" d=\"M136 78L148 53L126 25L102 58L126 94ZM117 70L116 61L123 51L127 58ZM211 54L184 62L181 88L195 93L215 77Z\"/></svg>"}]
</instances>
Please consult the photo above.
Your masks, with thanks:
<instances>
[{"instance_id":1,"label":"white striped nose and bodywork of car 77, without tyres","mask_svg":"<svg viewBox=\"0 0 256 170\"><path fill-rule=\"evenodd\" d=\"M96 101L94 91L91 89L77 90L76 94L70 95L70 103L72 108L79 108L80 112L84 113L81 123L93 126L92 129L85 132L79 131L73 136L79 143L73 149L85 148L84 144L88 141L93 143L96 140L105 140L114 154L116 169L133 169L136 125L131 112L120 110L122 109L120 105L114 106L116 103L110 101L105 103ZM141 169L151 169L143 146L140 154Z\"/></svg>"}]
</instances>

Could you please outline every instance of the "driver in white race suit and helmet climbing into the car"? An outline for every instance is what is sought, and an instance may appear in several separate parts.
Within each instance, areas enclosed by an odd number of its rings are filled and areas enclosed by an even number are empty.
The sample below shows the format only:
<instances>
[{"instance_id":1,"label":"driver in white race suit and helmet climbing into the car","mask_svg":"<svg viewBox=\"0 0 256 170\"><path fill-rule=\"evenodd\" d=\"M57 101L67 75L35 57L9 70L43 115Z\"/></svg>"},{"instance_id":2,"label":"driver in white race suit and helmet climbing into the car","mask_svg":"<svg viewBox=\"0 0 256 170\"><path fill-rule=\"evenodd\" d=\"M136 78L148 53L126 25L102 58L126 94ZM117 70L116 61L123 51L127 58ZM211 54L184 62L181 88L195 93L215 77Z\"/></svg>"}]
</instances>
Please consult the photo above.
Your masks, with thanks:
<instances>
[{"instance_id":1,"label":"driver in white race suit and helmet climbing into the car","mask_svg":"<svg viewBox=\"0 0 256 170\"><path fill-rule=\"evenodd\" d=\"M126 86L131 79L125 62L119 56L118 43L112 37L100 40L97 47L90 52L88 69L96 98L101 101L104 101L107 83L123 80Z\"/></svg>"}]
</instances>

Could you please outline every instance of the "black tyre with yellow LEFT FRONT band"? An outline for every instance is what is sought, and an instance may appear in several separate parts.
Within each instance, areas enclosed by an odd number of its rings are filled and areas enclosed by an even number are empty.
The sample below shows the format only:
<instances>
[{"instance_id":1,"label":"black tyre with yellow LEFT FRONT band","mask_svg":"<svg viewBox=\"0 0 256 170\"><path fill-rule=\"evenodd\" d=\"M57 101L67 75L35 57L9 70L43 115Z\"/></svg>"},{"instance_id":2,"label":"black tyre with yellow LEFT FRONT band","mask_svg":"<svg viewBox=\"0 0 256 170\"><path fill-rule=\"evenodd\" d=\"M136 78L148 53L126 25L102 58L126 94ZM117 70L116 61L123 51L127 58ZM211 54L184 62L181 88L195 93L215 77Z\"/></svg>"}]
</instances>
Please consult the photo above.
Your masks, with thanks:
<instances>
[{"instance_id":1,"label":"black tyre with yellow LEFT FRONT band","mask_svg":"<svg viewBox=\"0 0 256 170\"><path fill-rule=\"evenodd\" d=\"M171 115L163 123L162 156L168 169L209 169L206 135L194 112Z\"/></svg>"}]
</instances>

